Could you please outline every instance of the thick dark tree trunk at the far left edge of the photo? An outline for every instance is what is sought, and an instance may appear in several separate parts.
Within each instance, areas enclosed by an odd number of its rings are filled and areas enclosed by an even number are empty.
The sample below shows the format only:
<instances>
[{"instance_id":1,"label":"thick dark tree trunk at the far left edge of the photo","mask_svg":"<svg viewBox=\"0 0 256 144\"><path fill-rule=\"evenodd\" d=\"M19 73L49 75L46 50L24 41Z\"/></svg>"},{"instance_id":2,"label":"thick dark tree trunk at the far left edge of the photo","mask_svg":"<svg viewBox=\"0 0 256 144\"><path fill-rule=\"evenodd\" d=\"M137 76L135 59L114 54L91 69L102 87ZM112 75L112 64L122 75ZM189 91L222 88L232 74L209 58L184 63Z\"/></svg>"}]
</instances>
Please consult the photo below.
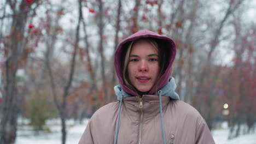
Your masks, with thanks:
<instances>
[{"instance_id":1,"label":"thick dark tree trunk at the far left edge of the photo","mask_svg":"<svg viewBox=\"0 0 256 144\"><path fill-rule=\"evenodd\" d=\"M1 131L0 131L0 143L14 143L16 139L17 130L17 116L18 116L18 99L17 99L17 85L16 85L16 72L19 68L19 62L22 60L22 55L25 53L26 37L24 37L25 26L27 22L28 13L31 10L33 3L27 3L22 1L16 3L13 1L7 1L12 15L11 23L11 40L8 47L5 49L8 51L5 61L5 77L4 77L4 90L3 90L3 107L1 117ZM16 5L20 4L19 9L16 9Z\"/></svg>"}]
</instances>

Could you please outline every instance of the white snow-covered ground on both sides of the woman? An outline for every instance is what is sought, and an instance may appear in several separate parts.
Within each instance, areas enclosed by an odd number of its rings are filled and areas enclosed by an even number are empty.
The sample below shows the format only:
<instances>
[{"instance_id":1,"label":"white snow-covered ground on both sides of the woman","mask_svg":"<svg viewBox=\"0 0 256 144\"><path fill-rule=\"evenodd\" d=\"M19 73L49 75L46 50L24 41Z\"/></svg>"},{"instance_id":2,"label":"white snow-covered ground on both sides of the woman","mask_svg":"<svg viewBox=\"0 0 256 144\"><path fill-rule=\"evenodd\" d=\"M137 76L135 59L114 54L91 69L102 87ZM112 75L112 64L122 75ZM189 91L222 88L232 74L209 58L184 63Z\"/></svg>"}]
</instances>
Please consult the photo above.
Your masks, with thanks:
<instances>
[{"instance_id":1,"label":"white snow-covered ground on both sides of the woman","mask_svg":"<svg viewBox=\"0 0 256 144\"><path fill-rule=\"evenodd\" d=\"M23 124L26 124L27 121L23 121ZM83 124L77 124L73 121L67 121L67 144L78 143L80 137L82 136L88 119L84 121ZM39 132L34 134L31 127L28 126L19 126L18 128L18 137L15 144L58 144L61 143L61 127L59 120L51 120L46 123L51 129L50 133ZM226 125L226 124L224 124ZM235 144L235 143L246 143L246 144L256 144L256 133L249 135L241 135L235 139L228 140L229 130L227 127L221 129L213 130L212 135L213 139L217 144Z\"/></svg>"}]
</instances>

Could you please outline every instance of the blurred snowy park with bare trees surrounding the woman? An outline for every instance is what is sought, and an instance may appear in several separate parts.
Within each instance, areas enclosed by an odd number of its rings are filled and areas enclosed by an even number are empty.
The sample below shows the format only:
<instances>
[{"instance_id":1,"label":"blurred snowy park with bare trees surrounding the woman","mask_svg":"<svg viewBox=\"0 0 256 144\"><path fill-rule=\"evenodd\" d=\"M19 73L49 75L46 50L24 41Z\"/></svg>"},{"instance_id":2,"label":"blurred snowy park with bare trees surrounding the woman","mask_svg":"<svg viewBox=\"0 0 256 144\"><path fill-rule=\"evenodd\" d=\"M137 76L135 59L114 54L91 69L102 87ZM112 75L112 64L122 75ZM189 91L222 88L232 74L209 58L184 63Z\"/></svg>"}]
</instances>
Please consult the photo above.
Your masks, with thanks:
<instances>
[{"instance_id":1,"label":"blurred snowy park with bare trees surrounding the woman","mask_svg":"<svg viewBox=\"0 0 256 144\"><path fill-rule=\"evenodd\" d=\"M176 41L176 92L216 143L255 143L254 0L1 0L0 143L78 143L116 99L115 48L144 29Z\"/></svg>"}]
</instances>

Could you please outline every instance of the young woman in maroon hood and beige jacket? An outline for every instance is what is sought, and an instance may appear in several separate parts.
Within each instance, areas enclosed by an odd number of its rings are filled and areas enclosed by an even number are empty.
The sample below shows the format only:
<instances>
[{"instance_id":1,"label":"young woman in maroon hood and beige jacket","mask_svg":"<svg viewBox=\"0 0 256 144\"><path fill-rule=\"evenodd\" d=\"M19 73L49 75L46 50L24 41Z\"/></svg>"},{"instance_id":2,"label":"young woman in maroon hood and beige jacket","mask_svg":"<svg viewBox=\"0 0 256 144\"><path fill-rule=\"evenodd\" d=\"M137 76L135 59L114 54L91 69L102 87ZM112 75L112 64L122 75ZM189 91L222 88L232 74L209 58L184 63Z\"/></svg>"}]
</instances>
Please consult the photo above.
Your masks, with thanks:
<instances>
[{"instance_id":1,"label":"young woman in maroon hood and beige jacket","mask_svg":"<svg viewBox=\"0 0 256 144\"><path fill-rule=\"evenodd\" d=\"M175 55L174 41L151 31L123 40L114 57L118 101L94 113L79 143L214 143L200 113L174 92Z\"/></svg>"}]
</instances>

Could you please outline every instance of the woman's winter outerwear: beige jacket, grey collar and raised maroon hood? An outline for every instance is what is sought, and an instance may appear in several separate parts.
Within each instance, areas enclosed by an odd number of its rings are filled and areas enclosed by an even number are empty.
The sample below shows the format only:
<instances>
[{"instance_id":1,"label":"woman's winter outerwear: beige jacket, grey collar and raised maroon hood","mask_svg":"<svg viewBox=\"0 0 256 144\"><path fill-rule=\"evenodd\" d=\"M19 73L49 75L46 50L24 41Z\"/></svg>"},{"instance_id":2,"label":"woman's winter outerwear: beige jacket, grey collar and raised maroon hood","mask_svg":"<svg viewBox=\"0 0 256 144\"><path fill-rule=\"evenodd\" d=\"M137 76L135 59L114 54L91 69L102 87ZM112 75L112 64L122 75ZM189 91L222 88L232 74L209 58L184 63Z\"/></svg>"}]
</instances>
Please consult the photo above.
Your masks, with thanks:
<instances>
[{"instance_id":1,"label":"woman's winter outerwear: beige jacket, grey collar and raised maroon hood","mask_svg":"<svg viewBox=\"0 0 256 144\"><path fill-rule=\"evenodd\" d=\"M138 38L156 38L170 49L165 73L155 87L157 92L135 96L121 78L120 53L124 45ZM114 87L117 101L101 107L91 117L79 144L98 143L214 143L210 130L194 107L179 100L170 77L176 55L174 41L150 31L140 31L121 42L115 51L119 84ZM152 88L154 89L154 87Z\"/></svg>"}]
</instances>

